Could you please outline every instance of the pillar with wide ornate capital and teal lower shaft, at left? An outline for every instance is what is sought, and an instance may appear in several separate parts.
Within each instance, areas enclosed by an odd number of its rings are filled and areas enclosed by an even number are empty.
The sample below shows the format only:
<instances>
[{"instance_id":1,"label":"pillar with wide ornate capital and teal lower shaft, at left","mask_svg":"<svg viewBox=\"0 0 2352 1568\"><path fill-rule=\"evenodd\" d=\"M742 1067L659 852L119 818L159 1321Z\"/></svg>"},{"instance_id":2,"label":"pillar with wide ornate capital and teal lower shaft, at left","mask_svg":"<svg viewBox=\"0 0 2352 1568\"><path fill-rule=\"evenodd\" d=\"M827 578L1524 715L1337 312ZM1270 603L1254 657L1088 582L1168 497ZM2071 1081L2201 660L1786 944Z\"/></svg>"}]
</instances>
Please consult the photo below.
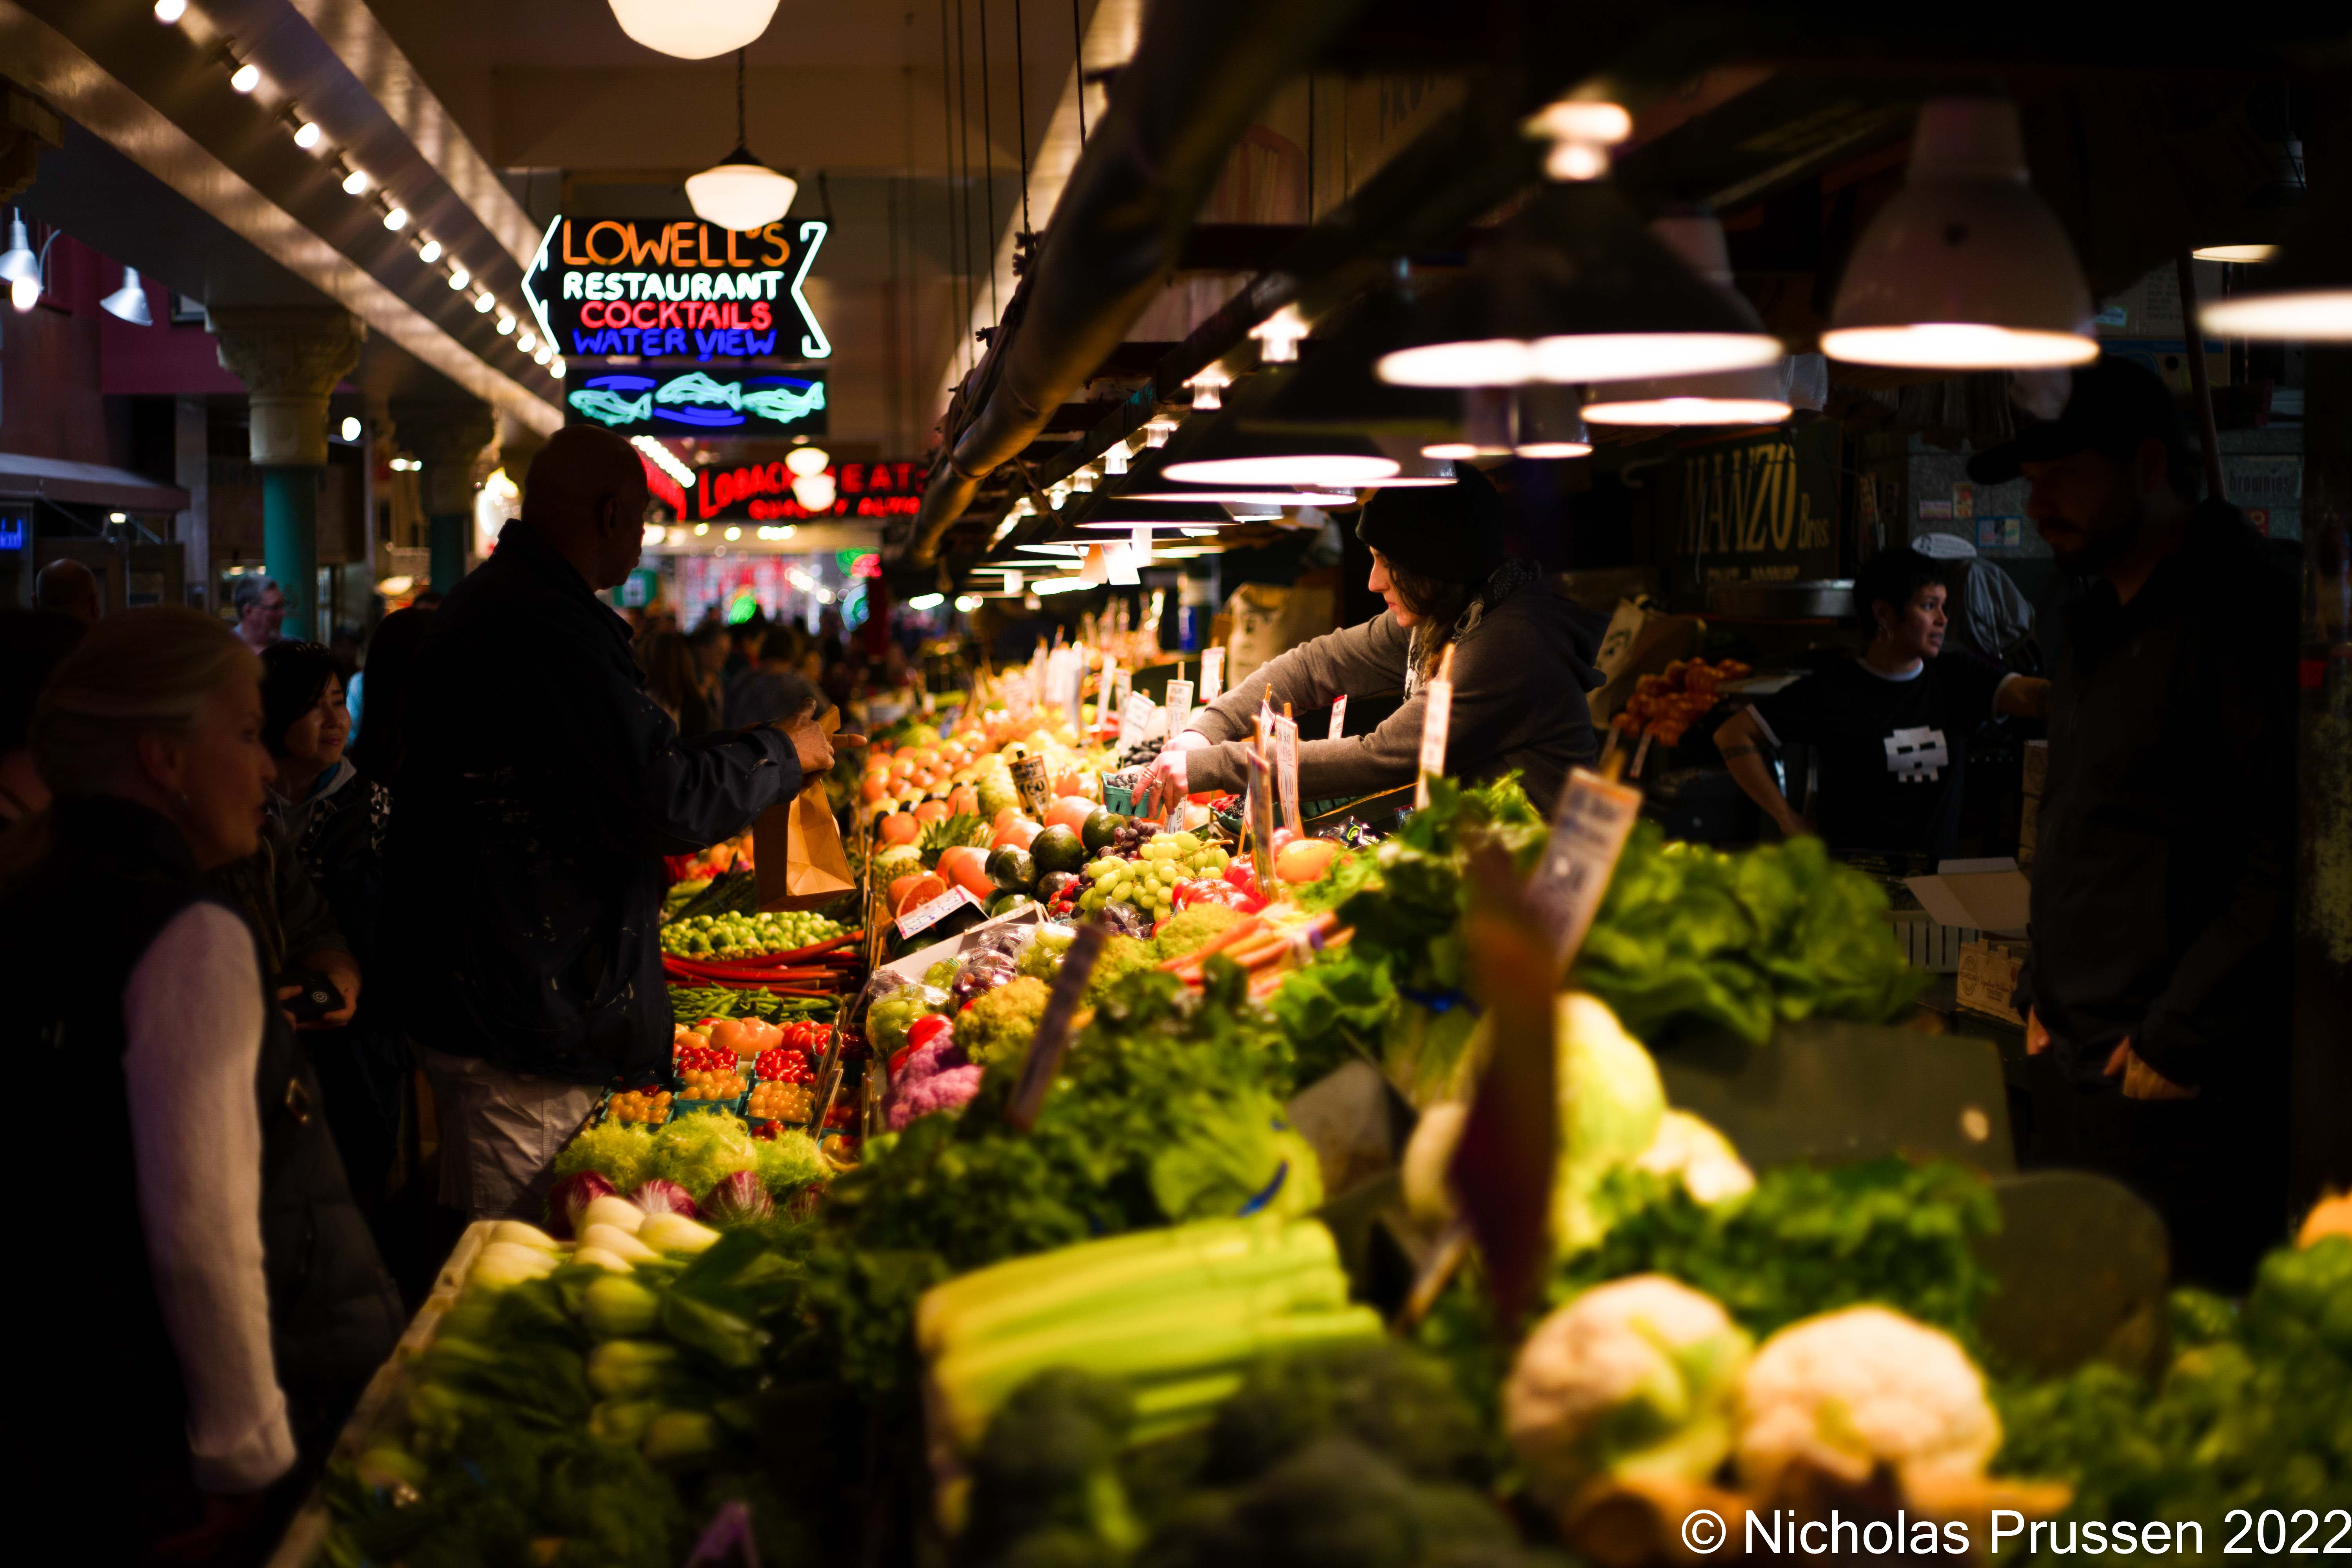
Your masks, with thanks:
<instances>
[{"instance_id":1,"label":"pillar with wide ornate capital and teal lower shaft, at left","mask_svg":"<svg viewBox=\"0 0 2352 1568\"><path fill-rule=\"evenodd\" d=\"M346 310L214 310L221 367L245 383L261 470L261 559L287 595L287 637L320 637L318 484L327 395L360 364L367 327Z\"/></svg>"}]
</instances>

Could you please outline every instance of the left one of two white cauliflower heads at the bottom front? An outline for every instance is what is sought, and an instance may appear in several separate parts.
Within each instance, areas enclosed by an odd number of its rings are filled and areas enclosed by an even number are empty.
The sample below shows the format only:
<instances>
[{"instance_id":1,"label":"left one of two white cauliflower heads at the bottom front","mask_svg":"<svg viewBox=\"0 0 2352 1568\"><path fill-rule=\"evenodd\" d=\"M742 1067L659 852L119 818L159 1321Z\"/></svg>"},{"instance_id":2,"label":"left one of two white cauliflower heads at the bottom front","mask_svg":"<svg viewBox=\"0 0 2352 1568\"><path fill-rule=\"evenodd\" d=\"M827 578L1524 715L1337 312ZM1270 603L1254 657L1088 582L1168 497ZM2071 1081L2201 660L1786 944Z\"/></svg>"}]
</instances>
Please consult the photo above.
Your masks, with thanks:
<instances>
[{"instance_id":1,"label":"left one of two white cauliflower heads at the bottom front","mask_svg":"<svg viewBox=\"0 0 2352 1568\"><path fill-rule=\"evenodd\" d=\"M1585 1291L1543 1319L1503 1385L1503 1429L1552 1507L1599 1474L1703 1481L1731 1453L1748 1333L1665 1274Z\"/></svg>"}]
</instances>

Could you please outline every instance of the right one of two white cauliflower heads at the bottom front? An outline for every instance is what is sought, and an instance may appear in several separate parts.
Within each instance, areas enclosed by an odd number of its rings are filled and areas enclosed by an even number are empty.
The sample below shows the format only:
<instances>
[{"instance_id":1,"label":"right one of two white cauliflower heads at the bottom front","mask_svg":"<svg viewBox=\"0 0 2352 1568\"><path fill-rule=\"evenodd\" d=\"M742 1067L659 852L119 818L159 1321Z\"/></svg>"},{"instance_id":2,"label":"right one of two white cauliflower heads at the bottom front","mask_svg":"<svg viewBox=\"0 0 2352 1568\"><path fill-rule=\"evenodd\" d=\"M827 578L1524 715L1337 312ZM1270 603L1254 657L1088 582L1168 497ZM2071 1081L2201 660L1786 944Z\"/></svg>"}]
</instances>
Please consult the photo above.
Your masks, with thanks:
<instances>
[{"instance_id":1,"label":"right one of two white cauliflower heads at the bottom front","mask_svg":"<svg viewBox=\"0 0 2352 1568\"><path fill-rule=\"evenodd\" d=\"M1889 1307L1790 1324L1740 1375L1740 1481L1771 1493L1804 1460L1851 1483L1891 1465L1978 1476L2002 1446L1985 1378L1959 1340Z\"/></svg>"}]
</instances>

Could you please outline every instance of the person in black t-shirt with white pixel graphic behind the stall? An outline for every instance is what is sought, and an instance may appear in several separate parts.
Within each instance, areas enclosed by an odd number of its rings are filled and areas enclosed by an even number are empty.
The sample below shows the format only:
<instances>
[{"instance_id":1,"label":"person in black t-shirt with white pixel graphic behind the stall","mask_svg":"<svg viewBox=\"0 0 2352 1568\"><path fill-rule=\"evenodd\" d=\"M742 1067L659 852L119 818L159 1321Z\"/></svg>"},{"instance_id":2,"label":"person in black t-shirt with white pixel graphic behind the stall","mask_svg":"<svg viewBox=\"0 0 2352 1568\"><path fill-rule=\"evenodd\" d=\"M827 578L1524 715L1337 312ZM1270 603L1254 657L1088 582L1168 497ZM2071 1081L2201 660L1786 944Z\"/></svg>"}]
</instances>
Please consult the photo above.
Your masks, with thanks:
<instances>
[{"instance_id":1,"label":"person in black t-shirt with white pixel graphic behind the stall","mask_svg":"<svg viewBox=\"0 0 2352 1568\"><path fill-rule=\"evenodd\" d=\"M1757 701L1715 731L1738 785L1788 835L1832 849L1943 858L1959 832L1969 733L1994 712L2042 717L2049 682L1966 654L1943 656L1943 569L1912 548L1875 555L1853 583L1872 625L1860 658ZM1799 816L1764 764L1764 745L1820 752L1818 823Z\"/></svg>"}]
</instances>

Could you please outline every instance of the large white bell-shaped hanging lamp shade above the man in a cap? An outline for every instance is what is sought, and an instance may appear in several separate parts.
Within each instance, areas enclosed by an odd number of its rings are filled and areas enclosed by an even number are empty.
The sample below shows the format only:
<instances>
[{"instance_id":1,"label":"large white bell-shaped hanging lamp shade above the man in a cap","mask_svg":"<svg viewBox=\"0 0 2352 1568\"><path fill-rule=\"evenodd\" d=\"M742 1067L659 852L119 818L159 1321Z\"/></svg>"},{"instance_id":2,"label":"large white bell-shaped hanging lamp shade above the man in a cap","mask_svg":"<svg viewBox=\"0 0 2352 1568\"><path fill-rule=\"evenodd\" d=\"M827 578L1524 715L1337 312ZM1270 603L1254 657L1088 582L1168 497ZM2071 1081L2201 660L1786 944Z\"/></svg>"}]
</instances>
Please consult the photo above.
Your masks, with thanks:
<instances>
[{"instance_id":1,"label":"large white bell-shaped hanging lamp shade above the man in a cap","mask_svg":"<svg viewBox=\"0 0 2352 1568\"><path fill-rule=\"evenodd\" d=\"M1870 219L1820 348L1905 369L2049 369L2098 357L2074 247L2025 179L2018 110L1936 99L1910 174Z\"/></svg>"}]
</instances>

